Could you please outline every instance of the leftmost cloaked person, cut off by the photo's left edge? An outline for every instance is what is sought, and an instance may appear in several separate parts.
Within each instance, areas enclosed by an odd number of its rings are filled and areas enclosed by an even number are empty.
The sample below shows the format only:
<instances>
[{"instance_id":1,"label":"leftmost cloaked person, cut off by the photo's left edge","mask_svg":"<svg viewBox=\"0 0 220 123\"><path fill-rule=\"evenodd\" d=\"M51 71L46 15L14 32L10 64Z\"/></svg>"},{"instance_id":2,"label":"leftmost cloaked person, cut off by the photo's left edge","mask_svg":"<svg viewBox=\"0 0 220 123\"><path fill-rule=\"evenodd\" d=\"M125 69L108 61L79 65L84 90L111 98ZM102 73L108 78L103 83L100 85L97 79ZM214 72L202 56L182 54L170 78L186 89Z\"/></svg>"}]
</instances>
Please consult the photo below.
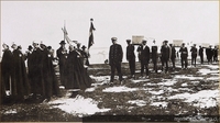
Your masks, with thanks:
<instances>
[{"instance_id":1,"label":"leftmost cloaked person, cut off by the photo's left edge","mask_svg":"<svg viewBox=\"0 0 220 123\"><path fill-rule=\"evenodd\" d=\"M9 91L11 94L11 77L12 77L12 66L13 66L13 56L9 46L7 44L2 44L3 55L1 60L1 101L6 101L7 93Z\"/></svg>"}]
</instances>

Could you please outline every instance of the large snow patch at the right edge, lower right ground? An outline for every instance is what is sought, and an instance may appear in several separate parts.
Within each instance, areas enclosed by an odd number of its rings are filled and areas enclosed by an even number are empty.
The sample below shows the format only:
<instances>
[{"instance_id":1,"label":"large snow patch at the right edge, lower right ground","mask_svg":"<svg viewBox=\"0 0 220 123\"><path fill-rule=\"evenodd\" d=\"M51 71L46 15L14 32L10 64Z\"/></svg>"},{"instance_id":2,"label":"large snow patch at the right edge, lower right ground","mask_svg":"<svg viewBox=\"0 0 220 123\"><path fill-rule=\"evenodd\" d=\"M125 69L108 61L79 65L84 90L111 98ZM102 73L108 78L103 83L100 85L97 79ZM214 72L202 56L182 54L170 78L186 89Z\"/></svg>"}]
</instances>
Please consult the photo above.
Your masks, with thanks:
<instances>
[{"instance_id":1,"label":"large snow patch at the right edge, lower right ground","mask_svg":"<svg viewBox=\"0 0 220 123\"><path fill-rule=\"evenodd\" d=\"M168 99L185 99L185 102L194 102L195 107L209 108L217 105L217 99L219 98L219 90L201 90L197 93L180 93L172 96Z\"/></svg>"}]
</instances>

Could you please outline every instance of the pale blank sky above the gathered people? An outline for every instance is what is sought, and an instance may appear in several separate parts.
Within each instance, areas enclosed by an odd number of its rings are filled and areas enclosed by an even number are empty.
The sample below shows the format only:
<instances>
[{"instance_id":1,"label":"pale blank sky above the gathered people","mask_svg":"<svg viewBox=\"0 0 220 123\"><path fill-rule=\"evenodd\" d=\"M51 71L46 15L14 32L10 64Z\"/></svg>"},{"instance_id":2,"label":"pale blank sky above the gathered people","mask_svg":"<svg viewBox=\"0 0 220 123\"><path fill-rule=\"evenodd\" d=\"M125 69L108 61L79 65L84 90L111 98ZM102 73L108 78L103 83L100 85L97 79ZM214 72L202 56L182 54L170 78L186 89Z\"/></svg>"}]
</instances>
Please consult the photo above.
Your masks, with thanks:
<instances>
[{"instance_id":1,"label":"pale blank sky above the gathered people","mask_svg":"<svg viewBox=\"0 0 220 123\"><path fill-rule=\"evenodd\" d=\"M219 1L1 1L1 44L26 51L43 41L57 49L65 21L69 38L88 46L90 18L96 27L90 52L109 47L112 36L123 48L132 35L219 43Z\"/></svg>"}]
</instances>

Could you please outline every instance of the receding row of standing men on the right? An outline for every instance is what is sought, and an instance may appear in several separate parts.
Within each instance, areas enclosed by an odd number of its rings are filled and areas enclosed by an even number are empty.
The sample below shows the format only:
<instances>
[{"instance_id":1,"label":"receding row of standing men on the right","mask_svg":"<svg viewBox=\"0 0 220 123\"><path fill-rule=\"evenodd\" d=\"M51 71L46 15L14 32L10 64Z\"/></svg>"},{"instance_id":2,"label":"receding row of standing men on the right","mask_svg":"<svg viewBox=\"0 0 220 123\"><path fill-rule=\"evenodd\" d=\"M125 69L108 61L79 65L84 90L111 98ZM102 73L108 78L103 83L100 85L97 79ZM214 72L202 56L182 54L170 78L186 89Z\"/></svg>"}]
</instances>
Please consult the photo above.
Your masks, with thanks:
<instances>
[{"instance_id":1,"label":"receding row of standing men on the right","mask_svg":"<svg viewBox=\"0 0 220 123\"><path fill-rule=\"evenodd\" d=\"M117 37L112 37L112 45L110 46L109 51L109 65L111 66L111 79L110 85L114 81L114 71L117 69L119 75L119 80L123 82L122 72L121 72L121 62L123 58L123 51L120 44L117 44ZM131 44L131 40L127 40L128 46L127 46L127 60L129 62L129 68L131 76L130 78L136 78L135 77L135 54L134 54L134 44ZM163 45L158 47L156 45L156 42L153 41L153 45L150 47L147 46L147 41L143 40L142 44L139 45L136 52L138 52L138 58L141 63L141 77L140 78L148 78L150 70L148 70L148 64L152 59L153 63L153 71L158 71L158 60L162 63L161 70L162 72L167 74L169 69L176 68L176 57L178 54L180 54L180 63L182 63L182 69L188 68L188 56L189 53L191 53L191 66L196 67L196 60L197 60L197 54L200 56L200 63L204 64L204 49L206 49L206 56L208 64L212 64L212 62L218 62L218 47L215 46L215 48L211 47L201 47L199 46L199 51L197 51L196 44L191 46L191 48L188 51L185 43L182 44L179 51L176 51L175 46L173 44L168 45L168 41L164 41ZM161 52L161 54L160 54ZM172 63L172 67L169 67L169 62ZM144 74L145 71L145 74Z\"/></svg>"}]
</instances>

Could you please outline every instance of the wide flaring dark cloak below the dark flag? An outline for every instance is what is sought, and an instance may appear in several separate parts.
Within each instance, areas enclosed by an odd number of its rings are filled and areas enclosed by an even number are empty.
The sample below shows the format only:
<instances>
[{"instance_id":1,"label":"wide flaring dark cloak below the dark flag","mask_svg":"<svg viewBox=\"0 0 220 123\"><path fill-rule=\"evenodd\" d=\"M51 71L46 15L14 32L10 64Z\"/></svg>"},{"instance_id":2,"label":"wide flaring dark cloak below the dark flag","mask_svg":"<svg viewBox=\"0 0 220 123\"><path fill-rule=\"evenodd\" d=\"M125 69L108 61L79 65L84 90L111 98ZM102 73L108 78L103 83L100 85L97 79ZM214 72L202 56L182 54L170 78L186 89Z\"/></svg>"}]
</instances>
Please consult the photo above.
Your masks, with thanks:
<instances>
[{"instance_id":1,"label":"wide flaring dark cloak below the dark flag","mask_svg":"<svg viewBox=\"0 0 220 123\"><path fill-rule=\"evenodd\" d=\"M91 86L91 78L81 63L81 55L77 51L72 51L67 57L67 82L66 89L85 90Z\"/></svg>"}]
</instances>

